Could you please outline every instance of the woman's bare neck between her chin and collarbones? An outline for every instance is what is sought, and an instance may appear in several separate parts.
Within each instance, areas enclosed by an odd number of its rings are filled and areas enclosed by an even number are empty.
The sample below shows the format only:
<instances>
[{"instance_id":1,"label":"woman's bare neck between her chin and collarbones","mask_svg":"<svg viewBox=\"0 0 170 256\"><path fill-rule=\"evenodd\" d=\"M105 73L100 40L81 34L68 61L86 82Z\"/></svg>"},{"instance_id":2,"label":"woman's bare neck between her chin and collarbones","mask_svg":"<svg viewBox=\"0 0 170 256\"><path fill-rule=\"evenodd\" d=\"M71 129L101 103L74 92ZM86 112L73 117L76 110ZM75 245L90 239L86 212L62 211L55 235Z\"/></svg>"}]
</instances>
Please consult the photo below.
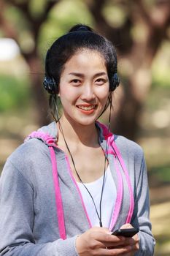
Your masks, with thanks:
<instances>
[{"instance_id":1,"label":"woman's bare neck between her chin and collarbones","mask_svg":"<svg viewBox=\"0 0 170 256\"><path fill-rule=\"evenodd\" d=\"M98 132L95 123L90 125L73 124L65 116L61 116L60 124L63 135L71 143L83 144L85 146L98 145ZM58 135L62 134L62 129L58 124Z\"/></svg>"}]
</instances>

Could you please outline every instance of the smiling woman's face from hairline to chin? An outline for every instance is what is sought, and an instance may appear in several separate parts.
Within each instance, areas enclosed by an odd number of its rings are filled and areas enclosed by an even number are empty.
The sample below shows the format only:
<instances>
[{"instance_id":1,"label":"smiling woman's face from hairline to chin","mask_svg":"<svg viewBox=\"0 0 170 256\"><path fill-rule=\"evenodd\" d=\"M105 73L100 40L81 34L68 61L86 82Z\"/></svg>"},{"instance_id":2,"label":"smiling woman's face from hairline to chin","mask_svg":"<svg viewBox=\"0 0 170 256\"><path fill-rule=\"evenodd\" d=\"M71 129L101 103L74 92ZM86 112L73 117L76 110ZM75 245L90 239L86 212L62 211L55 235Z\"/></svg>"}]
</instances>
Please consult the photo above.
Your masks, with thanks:
<instances>
[{"instance_id":1,"label":"smiling woman's face from hairline to chin","mask_svg":"<svg viewBox=\"0 0 170 256\"><path fill-rule=\"evenodd\" d=\"M93 124L109 96L104 58L94 50L81 50L64 65L59 84L63 117L69 122Z\"/></svg>"}]
</instances>

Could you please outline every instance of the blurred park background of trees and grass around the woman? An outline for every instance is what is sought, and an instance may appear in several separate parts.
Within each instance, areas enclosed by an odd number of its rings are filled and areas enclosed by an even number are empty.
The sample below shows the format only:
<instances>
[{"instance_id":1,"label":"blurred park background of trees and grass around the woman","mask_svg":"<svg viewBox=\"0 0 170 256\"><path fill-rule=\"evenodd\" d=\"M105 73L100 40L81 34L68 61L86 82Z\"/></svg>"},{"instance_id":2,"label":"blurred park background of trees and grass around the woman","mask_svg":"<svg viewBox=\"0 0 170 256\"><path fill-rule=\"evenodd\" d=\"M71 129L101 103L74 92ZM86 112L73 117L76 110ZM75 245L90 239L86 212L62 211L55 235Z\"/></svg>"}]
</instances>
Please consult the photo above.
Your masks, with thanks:
<instances>
[{"instance_id":1,"label":"blurred park background of trees and grass around the woman","mask_svg":"<svg viewBox=\"0 0 170 256\"><path fill-rule=\"evenodd\" d=\"M0 1L0 173L26 135L50 121L42 89L45 53L75 23L92 26L117 48L121 83L114 92L111 127L144 148L155 256L168 256L169 1Z\"/></svg>"}]
</instances>

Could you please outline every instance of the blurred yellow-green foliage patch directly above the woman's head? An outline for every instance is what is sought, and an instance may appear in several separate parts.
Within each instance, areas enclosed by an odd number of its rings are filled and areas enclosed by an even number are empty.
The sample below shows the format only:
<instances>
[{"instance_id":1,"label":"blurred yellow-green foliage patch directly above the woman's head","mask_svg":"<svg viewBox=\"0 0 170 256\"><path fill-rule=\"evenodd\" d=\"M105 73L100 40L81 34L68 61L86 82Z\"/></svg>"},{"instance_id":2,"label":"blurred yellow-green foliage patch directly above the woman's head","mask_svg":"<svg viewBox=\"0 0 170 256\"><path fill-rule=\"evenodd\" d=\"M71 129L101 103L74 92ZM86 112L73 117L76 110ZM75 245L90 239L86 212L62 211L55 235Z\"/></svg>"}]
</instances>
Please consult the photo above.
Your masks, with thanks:
<instances>
[{"instance_id":1,"label":"blurred yellow-green foliage patch directly above the woman's head","mask_svg":"<svg viewBox=\"0 0 170 256\"><path fill-rule=\"evenodd\" d=\"M63 11L64 10L64 11ZM39 34L39 52L44 55L47 48L56 38L66 33L76 23L94 25L93 17L88 12L87 6L79 0L60 1L50 12L46 22L42 25Z\"/></svg>"}]
</instances>

